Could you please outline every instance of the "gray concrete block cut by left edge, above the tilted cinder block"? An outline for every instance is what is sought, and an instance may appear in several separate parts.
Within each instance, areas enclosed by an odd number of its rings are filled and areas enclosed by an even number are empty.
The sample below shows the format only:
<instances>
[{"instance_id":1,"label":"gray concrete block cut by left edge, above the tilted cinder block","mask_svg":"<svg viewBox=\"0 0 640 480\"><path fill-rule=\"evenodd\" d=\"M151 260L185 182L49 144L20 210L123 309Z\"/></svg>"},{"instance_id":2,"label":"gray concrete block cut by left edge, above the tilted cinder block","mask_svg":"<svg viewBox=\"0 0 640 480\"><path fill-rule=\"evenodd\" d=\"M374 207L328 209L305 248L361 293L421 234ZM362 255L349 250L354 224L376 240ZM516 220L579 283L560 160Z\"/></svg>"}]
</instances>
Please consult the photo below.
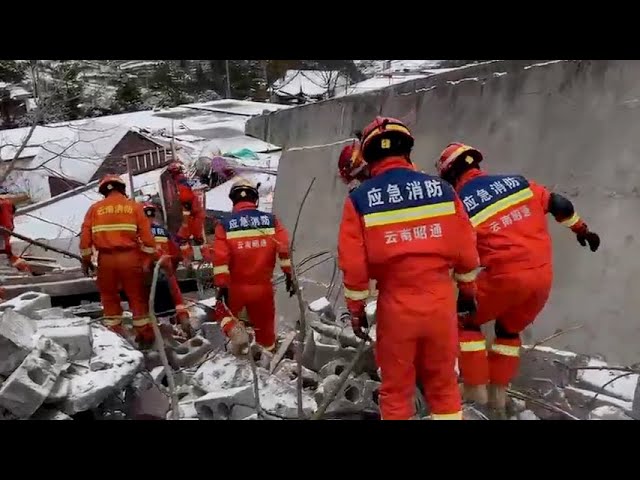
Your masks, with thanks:
<instances>
[{"instance_id":1,"label":"gray concrete block cut by left edge, above the tilted cinder block","mask_svg":"<svg viewBox=\"0 0 640 480\"><path fill-rule=\"evenodd\" d=\"M35 346L35 323L7 310L0 316L0 375L8 376L29 355Z\"/></svg>"}]
</instances>

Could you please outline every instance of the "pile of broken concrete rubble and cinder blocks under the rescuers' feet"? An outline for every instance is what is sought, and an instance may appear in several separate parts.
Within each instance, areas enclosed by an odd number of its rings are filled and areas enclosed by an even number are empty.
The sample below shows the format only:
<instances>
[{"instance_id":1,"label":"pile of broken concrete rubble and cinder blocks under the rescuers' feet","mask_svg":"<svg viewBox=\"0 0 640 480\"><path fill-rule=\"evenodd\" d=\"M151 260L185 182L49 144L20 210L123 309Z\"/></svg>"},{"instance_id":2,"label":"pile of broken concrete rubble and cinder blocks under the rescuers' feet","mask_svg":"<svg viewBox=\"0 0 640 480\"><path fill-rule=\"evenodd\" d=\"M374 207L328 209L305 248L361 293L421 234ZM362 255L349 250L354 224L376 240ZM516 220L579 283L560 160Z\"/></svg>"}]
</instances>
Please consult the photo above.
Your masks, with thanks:
<instances>
[{"instance_id":1,"label":"pile of broken concrete rubble and cinder blocks under the rescuers' feet","mask_svg":"<svg viewBox=\"0 0 640 480\"><path fill-rule=\"evenodd\" d=\"M310 307L301 368L305 418L335 392L360 346L348 322L337 319L329 305L314 302ZM142 353L104 328L97 320L100 311L99 304L88 303L51 308L50 298L37 292L0 304L0 419L299 418L294 332L280 338L274 353L256 347L251 361L227 353L219 325L196 311L192 323L199 335L165 338L175 383L170 391L159 353ZM375 325L369 334L375 340ZM369 345L323 418L379 418L379 389ZM545 346L523 348L521 374L510 393L513 420L630 420L640 415L635 370ZM416 409L426 417L421 395ZM464 406L463 417L487 419L472 405Z\"/></svg>"}]
</instances>

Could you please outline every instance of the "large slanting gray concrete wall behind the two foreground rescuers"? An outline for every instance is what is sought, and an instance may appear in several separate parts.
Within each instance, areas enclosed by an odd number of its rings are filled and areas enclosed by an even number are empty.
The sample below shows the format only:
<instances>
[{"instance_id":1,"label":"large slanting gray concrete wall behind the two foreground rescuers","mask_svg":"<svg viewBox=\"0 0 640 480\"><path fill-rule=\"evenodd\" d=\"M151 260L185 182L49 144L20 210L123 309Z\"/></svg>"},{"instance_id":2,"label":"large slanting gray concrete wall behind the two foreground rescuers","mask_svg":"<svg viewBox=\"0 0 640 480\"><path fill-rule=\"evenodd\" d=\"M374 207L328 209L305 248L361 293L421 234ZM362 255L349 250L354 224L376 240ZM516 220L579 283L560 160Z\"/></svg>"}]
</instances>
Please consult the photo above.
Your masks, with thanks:
<instances>
[{"instance_id":1,"label":"large slanting gray concrete wall behind the two foreground rescuers","mask_svg":"<svg viewBox=\"0 0 640 480\"><path fill-rule=\"evenodd\" d=\"M582 324L551 345L640 360L640 62L499 61L250 120L247 133L289 148L274 203L289 228L317 178L298 227L297 260L336 246L346 193L336 178L342 144L320 145L348 138L379 113L410 125L413 159L429 172L442 148L461 140L485 154L489 171L522 173L571 198L600 233L601 250L581 248L550 218L554 288L533 337ZM326 283L325 267L306 275ZM322 288L309 290L312 300ZM295 311L283 298L278 306Z\"/></svg>"}]
</instances>

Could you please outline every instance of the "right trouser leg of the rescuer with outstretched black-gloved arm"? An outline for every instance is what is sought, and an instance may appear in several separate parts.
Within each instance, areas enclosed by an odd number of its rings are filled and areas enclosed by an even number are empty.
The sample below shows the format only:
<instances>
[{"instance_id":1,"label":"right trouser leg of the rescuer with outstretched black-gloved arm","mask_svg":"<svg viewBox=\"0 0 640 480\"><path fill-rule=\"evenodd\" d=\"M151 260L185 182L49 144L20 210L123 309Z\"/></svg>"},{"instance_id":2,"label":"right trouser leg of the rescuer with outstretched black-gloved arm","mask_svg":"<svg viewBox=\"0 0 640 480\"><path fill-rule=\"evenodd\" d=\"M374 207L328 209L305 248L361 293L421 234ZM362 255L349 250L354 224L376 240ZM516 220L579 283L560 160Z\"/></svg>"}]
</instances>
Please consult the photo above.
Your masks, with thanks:
<instances>
[{"instance_id":1,"label":"right trouser leg of the rescuer with outstretched black-gloved arm","mask_svg":"<svg viewBox=\"0 0 640 480\"><path fill-rule=\"evenodd\" d=\"M513 279L526 297L496 319L496 339L489 352L489 374L494 385L507 386L520 367L520 333L531 325L547 303L552 284L549 267L525 270Z\"/></svg>"}]
</instances>

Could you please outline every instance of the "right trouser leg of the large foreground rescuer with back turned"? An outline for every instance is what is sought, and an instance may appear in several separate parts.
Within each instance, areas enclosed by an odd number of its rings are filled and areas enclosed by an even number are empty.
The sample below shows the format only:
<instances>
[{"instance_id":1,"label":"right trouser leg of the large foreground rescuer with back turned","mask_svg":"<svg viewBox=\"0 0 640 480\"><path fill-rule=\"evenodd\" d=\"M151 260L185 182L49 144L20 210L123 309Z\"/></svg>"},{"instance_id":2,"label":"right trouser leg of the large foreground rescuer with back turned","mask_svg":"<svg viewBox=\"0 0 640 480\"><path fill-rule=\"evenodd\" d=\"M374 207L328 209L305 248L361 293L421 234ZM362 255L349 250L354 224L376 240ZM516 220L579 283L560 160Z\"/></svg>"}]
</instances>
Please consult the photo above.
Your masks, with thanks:
<instances>
[{"instance_id":1,"label":"right trouser leg of the large foreground rescuer with back turned","mask_svg":"<svg viewBox=\"0 0 640 480\"><path fill-rule=\"evenodd\" d=\"M434 420L461 420L462 407L455 371L458 331L453 310L430 315L422 326L417 365L424 395Z\"/></svg>"}]
</instances>

